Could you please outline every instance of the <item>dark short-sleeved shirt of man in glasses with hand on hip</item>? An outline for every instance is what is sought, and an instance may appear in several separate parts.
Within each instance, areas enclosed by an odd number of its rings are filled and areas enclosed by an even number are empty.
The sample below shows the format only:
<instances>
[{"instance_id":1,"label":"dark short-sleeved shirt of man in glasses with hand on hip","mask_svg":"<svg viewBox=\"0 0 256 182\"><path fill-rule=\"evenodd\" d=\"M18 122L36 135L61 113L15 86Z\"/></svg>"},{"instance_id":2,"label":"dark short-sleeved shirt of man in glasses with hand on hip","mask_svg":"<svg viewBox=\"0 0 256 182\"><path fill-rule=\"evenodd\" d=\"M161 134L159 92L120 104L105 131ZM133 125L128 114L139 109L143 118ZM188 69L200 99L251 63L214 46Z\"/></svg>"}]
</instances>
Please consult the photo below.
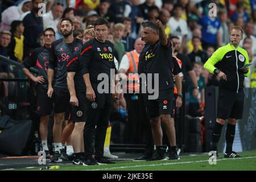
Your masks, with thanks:
<instances>
[{"instance_id":1,"label":"dark short-sleeved shirt of man in glasses with hand on hip","mask_svg":"<svg viewBox=\"0 0 256 182\"><path fill-rule=\"evenodd\" d=\"M34 49L33 52L24 60L23 67L30 69L30 67L36 67L38 69L39 76L44 77L44 83L38 83L38 87L42 89L48 88L47 80L47 67L49 64L49 49L46 47L39 47Z\"/></svg>"}]
</instances>

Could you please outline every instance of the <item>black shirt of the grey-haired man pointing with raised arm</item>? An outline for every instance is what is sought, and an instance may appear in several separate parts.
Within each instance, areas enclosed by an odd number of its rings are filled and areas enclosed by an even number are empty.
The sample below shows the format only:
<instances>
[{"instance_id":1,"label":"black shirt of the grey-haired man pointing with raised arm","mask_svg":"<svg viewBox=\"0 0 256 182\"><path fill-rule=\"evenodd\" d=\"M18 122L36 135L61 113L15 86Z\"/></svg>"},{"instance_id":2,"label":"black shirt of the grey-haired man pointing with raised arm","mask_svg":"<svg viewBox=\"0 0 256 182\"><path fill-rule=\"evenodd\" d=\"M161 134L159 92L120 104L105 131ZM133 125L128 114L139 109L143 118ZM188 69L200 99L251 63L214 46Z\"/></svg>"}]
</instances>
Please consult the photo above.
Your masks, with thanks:
<instances>
[{"instance_id":1,"label":"black shirt of the grey-haired man pointing with raised arm","mask_svg":"<svg viewBox=\"0 0 256 182\"><path fill-rule=\"evenodd\" d=\"M159 74L159 91L174 88L172 70L174 62L172 61L171 42L168 40L166 46L158 41L154 45L144 47L142 54L139 56L139 72L152 73L153 84L154 74Z\"/></svg>"}]
</instances>

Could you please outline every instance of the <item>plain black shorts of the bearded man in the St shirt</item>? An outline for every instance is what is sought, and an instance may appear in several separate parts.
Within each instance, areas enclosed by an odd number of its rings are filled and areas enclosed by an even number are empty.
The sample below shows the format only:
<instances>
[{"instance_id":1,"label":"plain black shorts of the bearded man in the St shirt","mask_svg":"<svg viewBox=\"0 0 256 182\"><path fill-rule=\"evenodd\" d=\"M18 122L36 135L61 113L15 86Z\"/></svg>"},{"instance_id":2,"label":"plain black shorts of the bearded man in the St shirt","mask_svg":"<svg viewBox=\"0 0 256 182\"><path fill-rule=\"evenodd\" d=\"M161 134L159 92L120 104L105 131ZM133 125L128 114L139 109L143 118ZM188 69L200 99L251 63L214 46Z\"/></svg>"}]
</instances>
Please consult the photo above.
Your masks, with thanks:
<instances>
[{"instance_id":1,"label":"plain black shorts of the bearded man in the St shirt","mask_svg":"<svg viewBox=\"0 0 256 182\"><path fill-rule=\"evenodd\" d=\"M68 117L68 113L71 113L71 105L69 104L70 95L67 89L54 88L54 113L67 113L65 119Z\"/></svg>"}]
</instances>

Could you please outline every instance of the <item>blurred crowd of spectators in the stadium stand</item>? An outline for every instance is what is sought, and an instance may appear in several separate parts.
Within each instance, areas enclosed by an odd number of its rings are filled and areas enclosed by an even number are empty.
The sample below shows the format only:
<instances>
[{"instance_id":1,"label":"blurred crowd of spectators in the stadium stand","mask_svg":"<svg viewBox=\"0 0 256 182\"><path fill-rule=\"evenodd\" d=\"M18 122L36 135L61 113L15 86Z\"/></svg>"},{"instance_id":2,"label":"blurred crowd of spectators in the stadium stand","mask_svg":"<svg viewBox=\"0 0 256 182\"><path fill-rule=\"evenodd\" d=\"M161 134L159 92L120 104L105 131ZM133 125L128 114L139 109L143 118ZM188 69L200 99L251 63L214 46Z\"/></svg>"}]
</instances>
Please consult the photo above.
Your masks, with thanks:
<instances>
[{"instance_id":1,"label":"blurred crowd of spectators in the stadium stand","mask_svg":"<svg viewBox=\"0 0 256 182\"><path fill-rule=\"evenodd\" d=\"M158 18L165 27L167 38L174 43L174 55L183 63L183 79L186 80L188 114L193 117L204 115L204 89L218 86L218 77L203 68L209 56L221 46L229 43L229 28L238 25L243 28L241 47L249 54L251 75L245 78L246 88L256 87L256 1L251 0L19 0L2 1L0 26L0 55L23 63L30 52L44 45L43 30L51 27L56 39L62 38L61 18L71 18L74 36L83 39L86 28L92 28L98 18L110 22L108 39L114 44L114 56L125 70L126 52L134 50L134 43L140 37L141 23L155 22ZM46 3L46 12L38 15L39 3ZM210 3L214 3L209 6ZM215 5L215 6L214 6ZM42 8L42 7L41 7ZM40 11L43 12L44 11ZM216 16L210 16L216 13ZM135 48L139 54L137 48ZM128 56L129 57L129 56ZM193 83L189 71L194 71L199 86L199 96L193 97ZM125 70L127 71L127 69ZM0 78L23 76L12 73L9 65L0 61ZM136 100L136 97L133 98ZM115 101L113 120L125 123L129 118L126 101ZM133 125L135 126L135 125ZM135 126L136 127L136 126ZM141 126L138 126L141 127ZM141 131L136 131L137 135ZM135 135L135 136L137 136ZM118 138L133 143L133 135ZM137 141L142 142L142 141Z\"/></svg>"}]
</instances>

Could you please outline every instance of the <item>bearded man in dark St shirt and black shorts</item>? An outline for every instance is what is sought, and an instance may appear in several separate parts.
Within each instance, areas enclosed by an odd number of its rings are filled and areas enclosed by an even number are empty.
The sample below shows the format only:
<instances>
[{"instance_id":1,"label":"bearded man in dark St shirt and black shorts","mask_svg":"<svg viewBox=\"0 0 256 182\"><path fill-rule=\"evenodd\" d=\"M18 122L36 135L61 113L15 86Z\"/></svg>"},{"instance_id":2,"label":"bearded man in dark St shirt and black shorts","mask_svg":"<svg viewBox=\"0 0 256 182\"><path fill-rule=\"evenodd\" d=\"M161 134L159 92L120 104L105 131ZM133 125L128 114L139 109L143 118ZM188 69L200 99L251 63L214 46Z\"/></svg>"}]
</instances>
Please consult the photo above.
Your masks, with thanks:
<instances>
[{"instance_id":1,"label":"bearded man in dark St shirt and black shorts","mask_svg":"<svg viewBox=\"0 0 256 182\"><path fill-rule=\"evenodd\" d=\"M68 160L64 146L60 143L65 112L70 113L71 110L67 85L67 67L73 61L79 59L82 47L82 41L73 38L73 22L71 19L63 18L61 20L60 31L63 34L63 39L56 40L52 43L48 65L47 94L50 98L53 96L53 76L55 75L55 122L52 131L55 152L53 154L53 162L61 162L62 159Z\"/></svg>"}]
</instances>

